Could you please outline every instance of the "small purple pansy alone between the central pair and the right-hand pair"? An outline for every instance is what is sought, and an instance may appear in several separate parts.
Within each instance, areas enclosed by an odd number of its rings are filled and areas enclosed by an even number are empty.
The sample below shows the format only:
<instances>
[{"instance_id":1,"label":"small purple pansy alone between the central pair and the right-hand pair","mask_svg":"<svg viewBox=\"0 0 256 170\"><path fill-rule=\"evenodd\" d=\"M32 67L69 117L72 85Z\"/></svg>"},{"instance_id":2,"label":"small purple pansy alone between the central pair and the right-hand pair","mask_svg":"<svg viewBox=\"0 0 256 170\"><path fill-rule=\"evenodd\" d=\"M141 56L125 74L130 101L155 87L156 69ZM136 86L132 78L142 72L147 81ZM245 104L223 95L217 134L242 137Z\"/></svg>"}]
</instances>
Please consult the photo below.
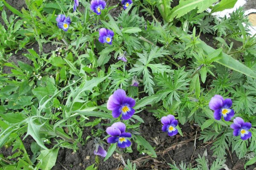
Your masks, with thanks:
<instances>
[{"instance_id":1,"label":"small purple pansy alone between the central pair and the right-hand pair","mask_svg":"<svg viewBox=\"0 0 256 170\"><path fill-rule=\"evenodd\" d=\"M178 125L178 121L173 115L163 116L161 122L163 123L162 130L164 132L168 131L169 136L174 136L178 133L178 130L175 128Z\"/></svg>"}]
</instances>

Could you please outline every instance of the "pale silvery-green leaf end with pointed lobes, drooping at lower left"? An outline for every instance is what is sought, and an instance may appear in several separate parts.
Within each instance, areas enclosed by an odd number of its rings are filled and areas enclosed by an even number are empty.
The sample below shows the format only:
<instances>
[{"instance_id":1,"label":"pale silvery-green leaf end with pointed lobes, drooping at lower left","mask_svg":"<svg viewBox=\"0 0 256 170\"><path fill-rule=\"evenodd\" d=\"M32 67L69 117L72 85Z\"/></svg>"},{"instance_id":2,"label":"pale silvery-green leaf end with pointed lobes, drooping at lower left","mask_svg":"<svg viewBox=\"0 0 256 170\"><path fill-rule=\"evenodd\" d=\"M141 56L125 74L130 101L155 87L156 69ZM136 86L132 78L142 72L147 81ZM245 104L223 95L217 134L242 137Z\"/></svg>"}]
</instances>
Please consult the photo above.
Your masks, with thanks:
<instances>
[{"instance_id":1,"label":"pale silvery-green leaf end with pointed lobes, drooping at lower left","mask_svg":"<svg viewBox=\"0 0 256 170\"><path fill-rule=\"evenodd\" d=\"M31 118L31 119L27 120L28 130L27 130L26 136L28 136L28 135L32 136L32 138L35 139L35 142L37 142L37 144L39 146L41 146L45 150L48 150L48 148L46 146L44 146L44 143L42 142L42 140L40 138L40 128L42 126L44 126L44 123L42 125L37 125L34 123L35 119L36 118ZM24 138L26 138L26 136Z\"/></svg>"}]
</instances>

